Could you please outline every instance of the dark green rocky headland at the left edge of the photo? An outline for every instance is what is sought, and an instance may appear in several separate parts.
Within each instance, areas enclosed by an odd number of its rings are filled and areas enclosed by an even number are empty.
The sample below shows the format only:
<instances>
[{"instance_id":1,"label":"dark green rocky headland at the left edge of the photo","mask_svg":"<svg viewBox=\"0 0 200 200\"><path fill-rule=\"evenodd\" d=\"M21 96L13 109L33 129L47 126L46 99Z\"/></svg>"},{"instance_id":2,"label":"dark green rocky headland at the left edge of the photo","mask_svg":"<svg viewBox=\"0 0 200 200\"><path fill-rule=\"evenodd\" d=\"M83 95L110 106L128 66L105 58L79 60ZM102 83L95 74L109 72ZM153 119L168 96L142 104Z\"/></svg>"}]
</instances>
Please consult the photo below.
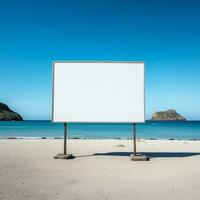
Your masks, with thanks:
<instances>
[{"instance_id":1,"label":"dark green rocky headland at the left edge of the photo","mask_svg":"<svg viewBox=\"0 0 200 200\"><path fill-rule=\"evenodd\" d=\"M12 111L6 104L0 102L0 121L22 121L23 118Z\"/></svg>"}]
</instances>

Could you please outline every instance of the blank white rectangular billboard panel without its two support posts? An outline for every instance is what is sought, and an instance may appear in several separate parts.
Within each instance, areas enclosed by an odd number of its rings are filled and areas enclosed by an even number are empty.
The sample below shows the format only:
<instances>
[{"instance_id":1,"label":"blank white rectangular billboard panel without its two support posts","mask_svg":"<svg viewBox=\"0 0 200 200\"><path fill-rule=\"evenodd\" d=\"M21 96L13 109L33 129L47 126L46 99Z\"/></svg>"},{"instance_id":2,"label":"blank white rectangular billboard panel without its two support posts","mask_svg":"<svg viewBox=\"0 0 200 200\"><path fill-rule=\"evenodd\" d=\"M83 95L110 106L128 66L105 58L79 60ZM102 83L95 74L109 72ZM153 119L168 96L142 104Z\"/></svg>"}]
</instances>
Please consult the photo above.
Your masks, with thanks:
<instances>
[{"instance_id":1,"label":"blank white rectangular billboard panel without its two support posts","mask_svg":"<svg viewBox=\"0 0 200 200\"><path fill-rule=\"evenodd\" d=\"M143 62L53 62L52 122L145 122Z\"/></svg>"}]
</instances>

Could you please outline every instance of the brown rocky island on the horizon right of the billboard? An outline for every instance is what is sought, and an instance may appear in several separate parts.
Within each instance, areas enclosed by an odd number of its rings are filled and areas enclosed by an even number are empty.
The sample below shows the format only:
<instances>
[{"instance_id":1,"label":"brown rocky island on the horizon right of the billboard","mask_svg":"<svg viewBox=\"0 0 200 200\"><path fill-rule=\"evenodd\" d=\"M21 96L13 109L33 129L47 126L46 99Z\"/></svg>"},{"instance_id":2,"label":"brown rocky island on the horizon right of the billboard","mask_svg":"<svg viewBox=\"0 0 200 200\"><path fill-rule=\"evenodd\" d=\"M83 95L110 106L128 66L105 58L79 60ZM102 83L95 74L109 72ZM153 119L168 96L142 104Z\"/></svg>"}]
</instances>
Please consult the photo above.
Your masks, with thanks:
<instances>
[{"instance_id":1,"label":"brown rocky island on the horizon right of the billboard","mask_svg":"<svg viewBox=\"0 0 200 200\"><path fill-rule=\"evenodd\" d=\"M152 115L153 121L186 121L186 119L178 114L176 110L167 110L162 112L155 112Z\"/></svg>"}]
</instances>

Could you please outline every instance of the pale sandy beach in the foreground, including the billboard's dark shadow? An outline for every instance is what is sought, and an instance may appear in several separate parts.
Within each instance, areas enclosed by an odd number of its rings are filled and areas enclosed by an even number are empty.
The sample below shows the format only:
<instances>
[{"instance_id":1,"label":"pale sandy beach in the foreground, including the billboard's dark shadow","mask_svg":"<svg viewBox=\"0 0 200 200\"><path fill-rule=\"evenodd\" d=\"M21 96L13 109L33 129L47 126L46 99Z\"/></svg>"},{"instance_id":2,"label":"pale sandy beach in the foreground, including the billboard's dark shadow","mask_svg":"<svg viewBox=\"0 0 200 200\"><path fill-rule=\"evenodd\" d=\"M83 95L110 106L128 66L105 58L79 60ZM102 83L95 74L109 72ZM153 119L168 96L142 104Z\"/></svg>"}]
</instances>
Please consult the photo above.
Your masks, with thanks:
<instances>
[{"instance_id":1,"label":"pale sandy beach in the foreground, including the billboard's dark shadow","mask_svg":"<svg viewBox=\"0 0 200 200\"><path fill-rule=\"evenodd\" d=\"M140 140L150 161L129 159L131 140L0 140L0 199L200 199L200 141ZM94 155L98 153L98 155Z\"/></svg>"}]
</instances>

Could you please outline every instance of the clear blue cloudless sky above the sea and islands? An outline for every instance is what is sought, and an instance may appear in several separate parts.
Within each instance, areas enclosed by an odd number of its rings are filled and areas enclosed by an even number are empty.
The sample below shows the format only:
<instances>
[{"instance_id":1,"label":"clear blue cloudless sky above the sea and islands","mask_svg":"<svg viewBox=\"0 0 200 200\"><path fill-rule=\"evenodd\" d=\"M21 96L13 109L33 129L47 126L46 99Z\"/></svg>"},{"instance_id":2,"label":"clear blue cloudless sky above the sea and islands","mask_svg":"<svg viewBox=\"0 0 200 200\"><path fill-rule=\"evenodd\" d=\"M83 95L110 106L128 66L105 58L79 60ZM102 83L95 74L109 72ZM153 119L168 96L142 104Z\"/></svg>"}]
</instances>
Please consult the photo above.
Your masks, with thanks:
<instances>
[{"instance_id":1,"label":"clear blue cloudless sky above the sea and islands","mask_svg":"<svg viewBox=\"0 0 200 200\"><path fill-rule=\"evenodd\" d=\"M198 0L2 1L0 101L50 119L52 60L145 61L147 119L200 119Z\"/></svg>"}]
</instances>

